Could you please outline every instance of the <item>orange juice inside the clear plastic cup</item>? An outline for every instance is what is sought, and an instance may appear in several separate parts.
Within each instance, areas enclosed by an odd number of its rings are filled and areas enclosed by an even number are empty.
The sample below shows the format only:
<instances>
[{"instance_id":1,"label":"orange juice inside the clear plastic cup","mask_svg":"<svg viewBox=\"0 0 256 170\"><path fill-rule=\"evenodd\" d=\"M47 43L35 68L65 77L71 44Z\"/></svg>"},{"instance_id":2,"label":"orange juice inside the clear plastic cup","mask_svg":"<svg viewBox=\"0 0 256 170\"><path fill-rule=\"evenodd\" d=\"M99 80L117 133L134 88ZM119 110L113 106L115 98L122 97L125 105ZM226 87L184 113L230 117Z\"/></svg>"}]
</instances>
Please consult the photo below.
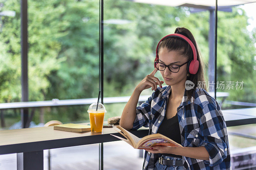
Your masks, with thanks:
<instances>
[{"instance_id":1,"label":"orange juice inside the clear plastic cup","mask_svg":"<svg viewBox=\"0 0 256 170\"><path fill-rule=\"evenodd\" d=\"M102 132L105 112L90 113L89 118L92 132Z\"/></svg>"}]
</instances>

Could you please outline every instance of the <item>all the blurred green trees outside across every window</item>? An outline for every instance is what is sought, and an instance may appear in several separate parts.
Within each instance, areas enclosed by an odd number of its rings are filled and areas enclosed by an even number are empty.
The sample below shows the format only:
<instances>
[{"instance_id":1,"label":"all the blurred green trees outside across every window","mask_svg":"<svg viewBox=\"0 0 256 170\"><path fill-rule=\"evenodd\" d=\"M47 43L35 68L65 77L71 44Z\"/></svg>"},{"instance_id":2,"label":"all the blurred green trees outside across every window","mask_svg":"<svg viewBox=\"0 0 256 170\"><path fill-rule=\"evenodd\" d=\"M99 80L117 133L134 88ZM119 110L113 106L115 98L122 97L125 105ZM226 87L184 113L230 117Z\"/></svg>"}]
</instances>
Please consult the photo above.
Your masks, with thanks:
<instances>
[{"instance_id":1,"label":"all the blurred green trees outside across every window","mask_svg":"<svg viewBox=\"0 0 256 170\"><path fill-rule=\"evenodd\" d=\"M248 32L245 12L237 7L232 9L232 12L218 12L218 80L244 81L242 90L224 90L230 94L228 99L256 103L253 70L256 30ZM6 10L15 11L16 16L2 17L1 103L21 98L20 1L5 1L2 11ZM242 11L241 15L238 10ZM104 96L131 95L135 86L154 69L158 41L178 26L193 33L207 64L209 15L208 11L190 14L184 7L105 0L104 20L131 22L104 24ZM98 96L98 1L28 1L28 43L30 101ZM156 76L162 80L160 74ZM143 95L151 93L145 90ZM109 104L107 115L121 115L123 107L124 103ZM88 119L87 109L88 106L46 109L44 119L84 120ZM38 123L39 110L34 120Z\"/></svg>"}]
</instances>

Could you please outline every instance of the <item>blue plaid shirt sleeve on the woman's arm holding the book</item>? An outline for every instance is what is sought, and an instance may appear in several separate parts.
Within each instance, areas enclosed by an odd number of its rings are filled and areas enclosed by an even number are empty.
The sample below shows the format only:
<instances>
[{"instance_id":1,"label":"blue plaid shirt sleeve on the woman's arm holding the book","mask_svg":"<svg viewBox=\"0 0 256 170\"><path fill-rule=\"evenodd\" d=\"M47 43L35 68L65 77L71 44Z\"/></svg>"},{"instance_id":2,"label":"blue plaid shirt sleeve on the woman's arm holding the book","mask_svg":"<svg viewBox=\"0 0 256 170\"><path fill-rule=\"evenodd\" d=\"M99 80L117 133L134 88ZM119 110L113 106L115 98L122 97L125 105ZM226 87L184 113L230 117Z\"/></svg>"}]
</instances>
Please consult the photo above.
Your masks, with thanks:
<instances>
[{"instance_id":1,"label":"blue plaid shirt sleeve on the woman's arm holding the book","mask_svg":"<svg viewBox=\"0 0 256 170\"><path fill-rule=\"evenodd\" d=\"M218 103L217 107L213 103L207 103L203 106L200 127L204 137L202 146L210 155L209 161L204 160L204 163L210 167L217 166L227 158L228 149L226 123Z\"/></svg>"}]
</instances>

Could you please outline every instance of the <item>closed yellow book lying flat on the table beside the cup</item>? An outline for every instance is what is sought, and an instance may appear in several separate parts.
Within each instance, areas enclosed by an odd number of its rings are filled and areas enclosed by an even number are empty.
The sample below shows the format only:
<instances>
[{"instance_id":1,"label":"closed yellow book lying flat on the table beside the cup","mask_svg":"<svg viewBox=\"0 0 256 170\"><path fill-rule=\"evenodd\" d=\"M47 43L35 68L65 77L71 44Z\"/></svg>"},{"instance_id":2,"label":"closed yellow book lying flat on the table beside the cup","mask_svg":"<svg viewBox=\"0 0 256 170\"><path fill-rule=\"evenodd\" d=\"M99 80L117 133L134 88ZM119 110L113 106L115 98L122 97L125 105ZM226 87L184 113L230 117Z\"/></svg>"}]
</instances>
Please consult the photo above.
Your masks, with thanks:
<instances>
[{"instance_id":1,"label":"closed yellow book lying flat on the table beside the cup","mask_svg":"<svg viewBox=\"0 0 256 170\"><path fill-rule=\"evenodd\" d=\"M91 131L91 126L84 124L60 124L53 126L53 129L63 130L63 131L75 131L75 132L85 132Z\"/></svg>"}]
</instances>

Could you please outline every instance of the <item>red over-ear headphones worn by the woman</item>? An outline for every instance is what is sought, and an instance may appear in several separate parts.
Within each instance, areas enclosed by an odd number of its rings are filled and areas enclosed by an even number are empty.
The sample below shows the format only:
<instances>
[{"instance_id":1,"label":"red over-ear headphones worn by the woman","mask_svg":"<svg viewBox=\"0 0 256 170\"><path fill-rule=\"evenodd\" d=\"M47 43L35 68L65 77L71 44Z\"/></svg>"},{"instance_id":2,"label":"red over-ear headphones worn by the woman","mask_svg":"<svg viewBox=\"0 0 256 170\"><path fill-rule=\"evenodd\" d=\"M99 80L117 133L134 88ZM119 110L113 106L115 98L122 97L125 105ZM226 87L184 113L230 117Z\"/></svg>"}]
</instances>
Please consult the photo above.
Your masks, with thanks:
<instances>
[{"instance_id":1,"label":"red over-ear headphones worn by the woman","mask_svg":"<svg viewBox=\"0 0 256 170\"><path fill-rule=\"evenodd\" d=\"M193 51L193 55L194 55L194 59L190 60L188 62L188 66L187 66L187 70L190 74L196 74L197 71L198 71L198 67L199 67L199 61L197 60L197 55L196 55L196 48L194 46L194 44L190 41L190 39L188 39L186 36L184 35L181 35L181 34L169 34L169 35L166 35L164 38L166 37L178 37L178 38L181 38L185 41L188 42L188 44L191 46L192 48L192 51ZM159 43L164 39L162 38ZM159 59L159 56L158 56L158 53L157 53L157 49L158 49L158 46L159 46L159 43L157 44L157 47L156 47L156 59L155 61L157 61ZM154 62L155 63L155 62ZM156 65L154 64L155 68L156 68Z\"/></svg>"}]
</instances>

